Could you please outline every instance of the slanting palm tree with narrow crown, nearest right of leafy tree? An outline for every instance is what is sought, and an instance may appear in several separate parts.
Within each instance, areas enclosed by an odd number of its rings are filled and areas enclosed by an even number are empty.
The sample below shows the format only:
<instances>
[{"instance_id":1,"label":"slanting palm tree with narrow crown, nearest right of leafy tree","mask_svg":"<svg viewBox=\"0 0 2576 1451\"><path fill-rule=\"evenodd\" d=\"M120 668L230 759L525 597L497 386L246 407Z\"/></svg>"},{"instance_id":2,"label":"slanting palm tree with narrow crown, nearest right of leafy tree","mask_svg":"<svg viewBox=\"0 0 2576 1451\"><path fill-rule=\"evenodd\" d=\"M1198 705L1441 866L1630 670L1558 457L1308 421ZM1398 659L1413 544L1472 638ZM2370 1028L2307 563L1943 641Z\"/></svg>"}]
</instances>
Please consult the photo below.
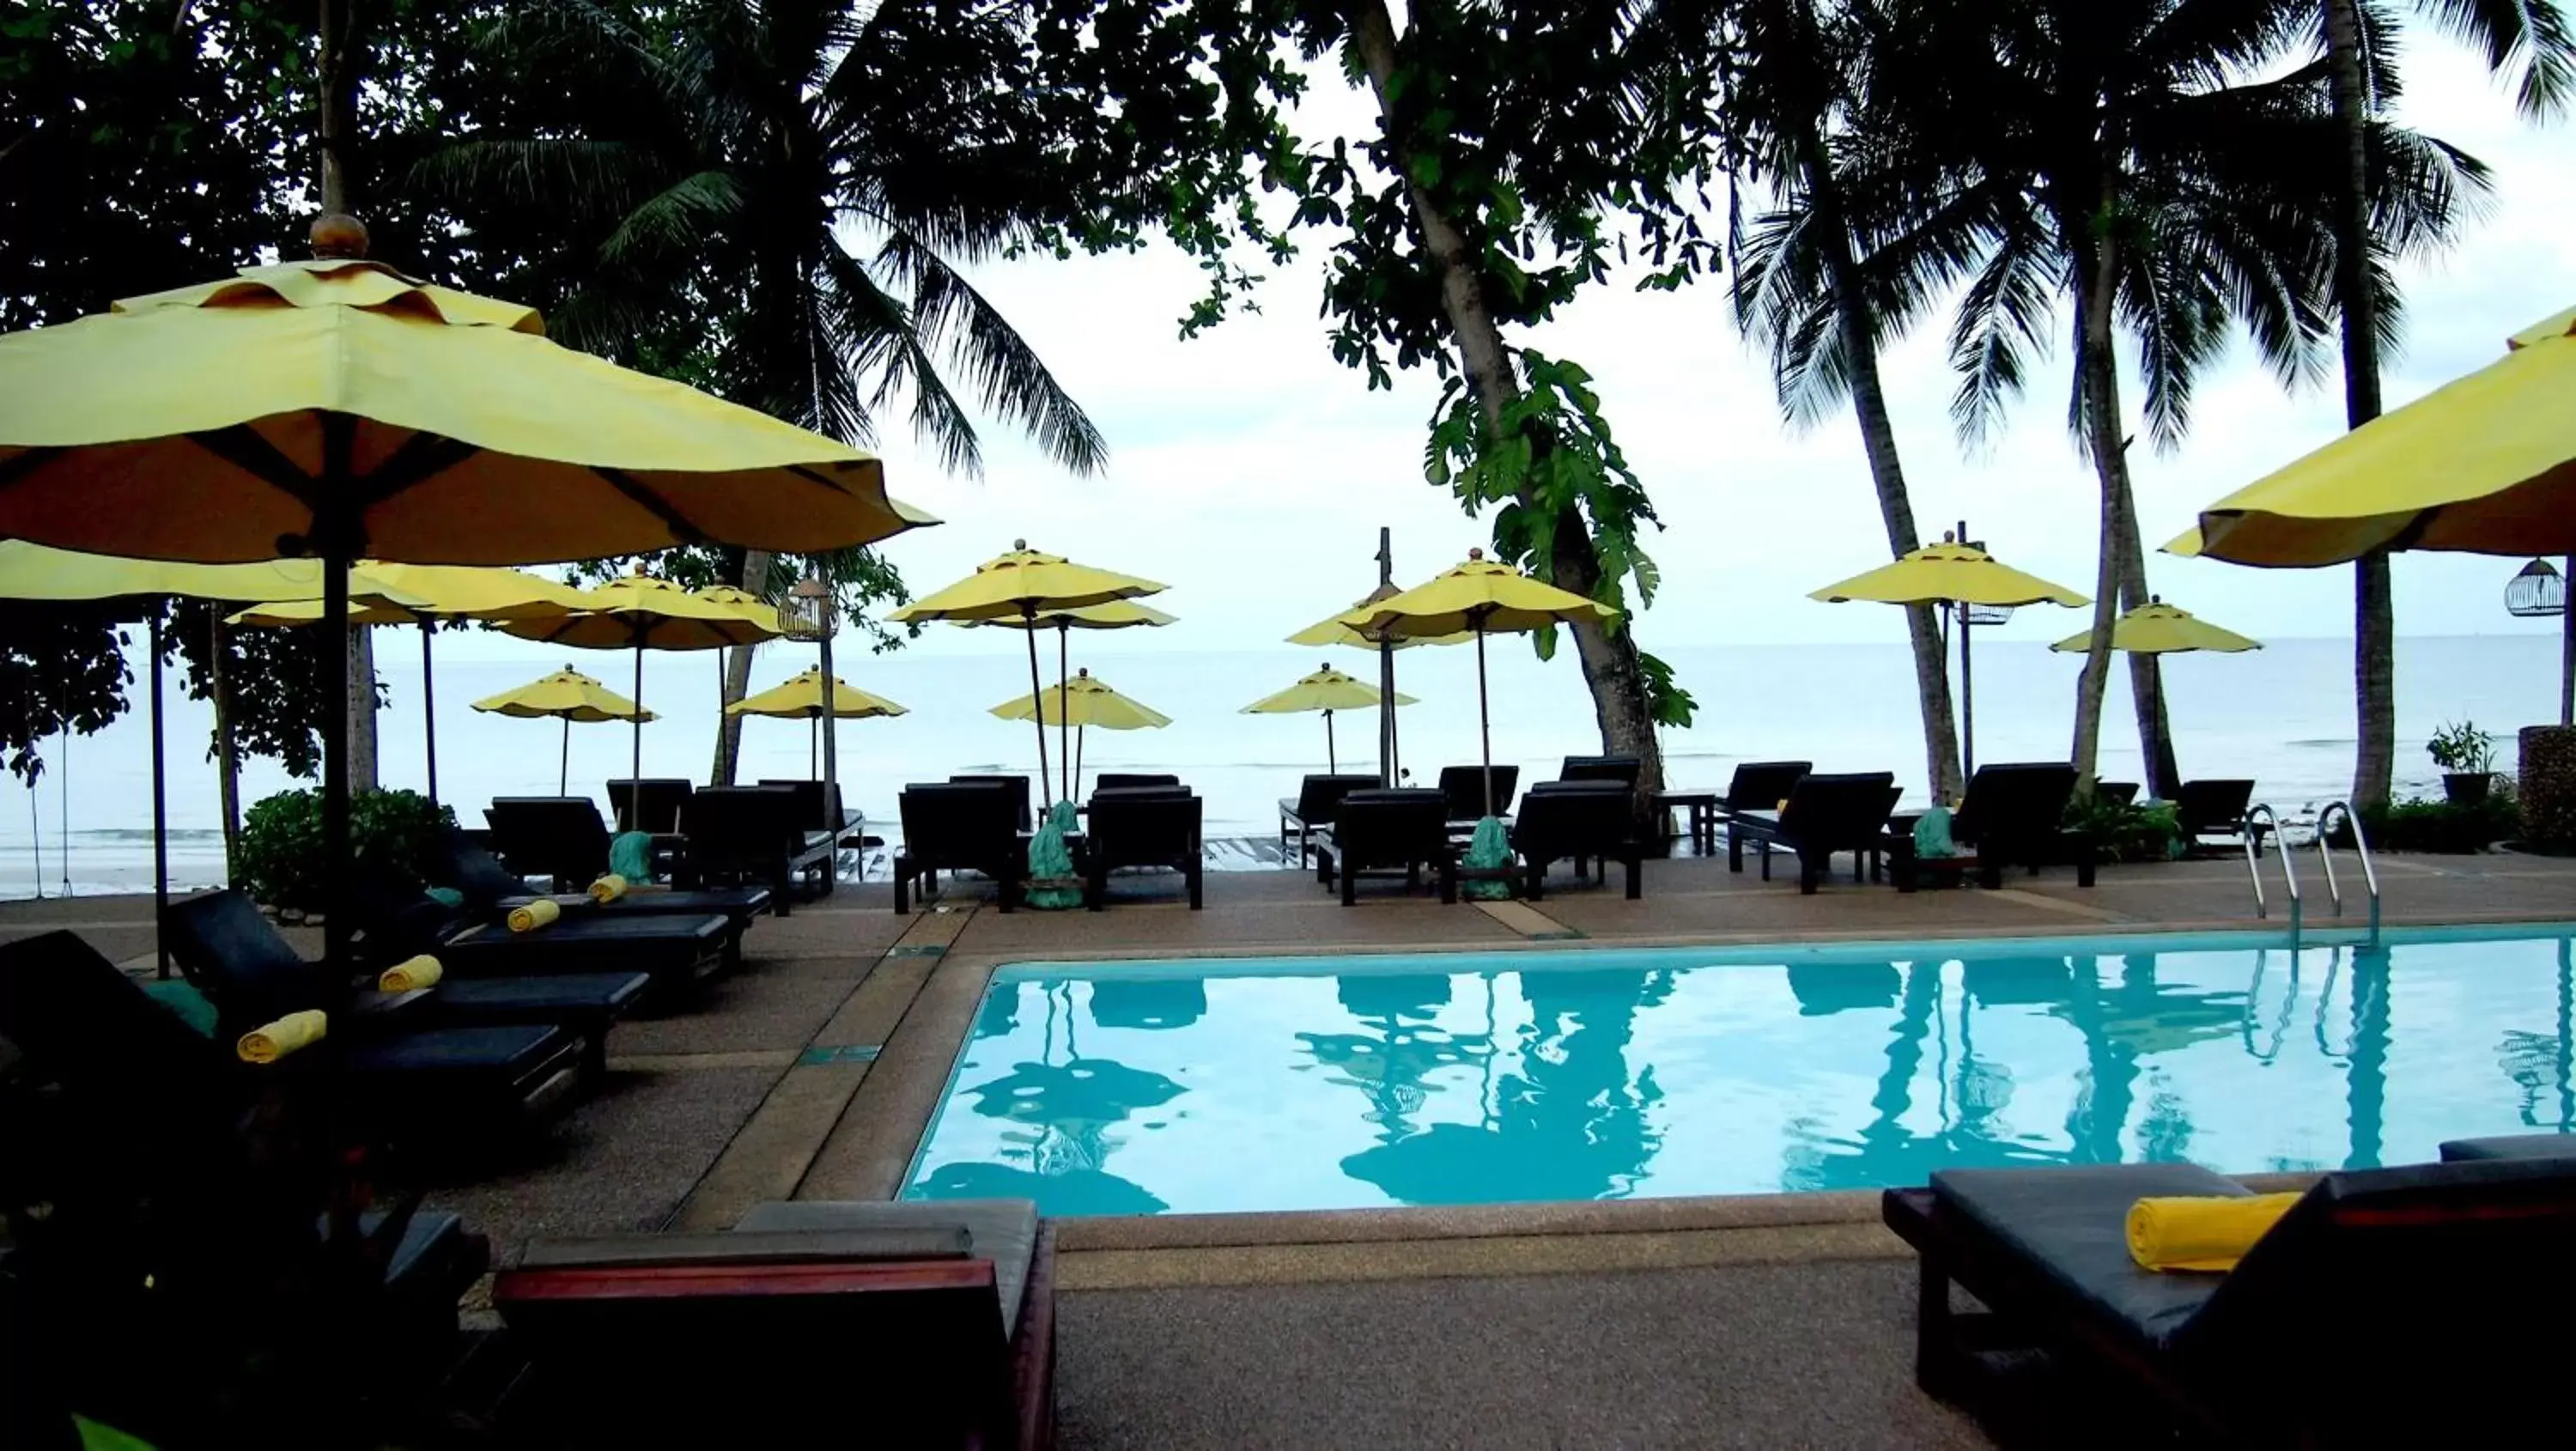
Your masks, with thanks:
<instances>
[{"instance_id":1,"label":"slanting palm tree with narrow crown, nearest right of leafy tree","mask_svg":"<svg viewBox=\"0 0 2576 1451\"><path fill-rule=\"evenodd\" d=\"M1814 0L1747 0L1736 10L1731 41L1744 57L1728 88L1728 113L1744 126L1736 170L1777 188L1777 204L1749 235L1739 229L1734 304L1739 325L1770 345L1780 407L1793 423L1816 423L1850 399L1888 552L1901 557L1922 536L1878 381L1878 345L1929 299L1878 296L1873 283L1886 278L1862 276L1842 198L1850 157L1837 162L1829 134L1847 134L1852 116L1868 108L1862 67L1875 21L1870 0L1847 0L1829 15L1819 15ZM1955 802L1965 781L1932 606L1906 608L1906 634L1922 701L1924 778L1937 802Z\"/></svg>"}]
</instances>

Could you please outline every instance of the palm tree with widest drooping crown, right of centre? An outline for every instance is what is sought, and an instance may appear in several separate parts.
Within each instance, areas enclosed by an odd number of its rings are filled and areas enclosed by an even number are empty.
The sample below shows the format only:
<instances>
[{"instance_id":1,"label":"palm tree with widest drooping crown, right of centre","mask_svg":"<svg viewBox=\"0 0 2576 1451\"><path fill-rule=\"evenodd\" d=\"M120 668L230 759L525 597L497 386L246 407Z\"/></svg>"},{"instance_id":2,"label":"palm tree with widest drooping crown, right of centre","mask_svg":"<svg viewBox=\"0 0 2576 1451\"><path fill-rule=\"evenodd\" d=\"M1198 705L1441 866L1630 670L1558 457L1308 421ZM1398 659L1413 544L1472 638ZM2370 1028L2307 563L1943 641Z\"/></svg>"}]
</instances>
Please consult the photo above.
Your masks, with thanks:
<instances>
[{"instance_id":1,"label":"palm tree with widest drooping crown, right of centre","mask_svg":"<svg viewBox=\"0 0 2576 1451\"><path fill-rule=\"evenodd\" d=\"M2241 325L2287 384L2316 369L2334 260L2336 131L2326 67L2272 80L2298 41L2295 0L2032 0L1978 13L1927 5L1888 26L1893 108L1855 222L1875 265L1937 289L1965 281L1950 330L1953 418L1978 436L2027 379L2061 299L2074 314L2071 425L2102 492L2092 644L2074 763L2089 791L2123 601L2143 601L2115 335L2143 379L2159 446L2190 425L2197 371ZM1942 183L1922 193L1924 170ZM2483 168L2372 126L2372 206L2398 245L2442 237ZM2161 724L2141 727L2156 760ZM2159 783L2164 786L2164 783Z\"/></svg>"}]
</instances>

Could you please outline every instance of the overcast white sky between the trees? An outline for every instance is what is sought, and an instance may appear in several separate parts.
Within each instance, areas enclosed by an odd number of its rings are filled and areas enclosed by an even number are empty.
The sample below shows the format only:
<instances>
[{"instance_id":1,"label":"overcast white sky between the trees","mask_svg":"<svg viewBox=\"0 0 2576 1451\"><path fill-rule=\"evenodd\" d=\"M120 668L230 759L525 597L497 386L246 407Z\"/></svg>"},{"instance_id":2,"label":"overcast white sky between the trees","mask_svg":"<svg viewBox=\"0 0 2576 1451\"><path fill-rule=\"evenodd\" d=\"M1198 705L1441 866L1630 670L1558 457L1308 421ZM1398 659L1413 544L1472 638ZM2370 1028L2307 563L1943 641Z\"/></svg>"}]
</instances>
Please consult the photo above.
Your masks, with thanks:
<instances>
[{"instance_id":1,"label":"overcast white sky between the trees","mask_svg":"<svg viewBox=\"0 0 2576 1451\"><path fill-rule=\"evenodd\" d=\"M2447 39L2414 36L2406 64L2406 119L2483 157L2496 191L2450 255L2406 268L2409 330L2385 376L2391 405L2494 358L2506 332L2576 302L2568 126L2524 126L2501 85ZM1319 85L1337 88L1337 72ZM1327 106L1334 119L1365 121L1347 93ZM1303 263L1283 271L1260 294L1262 314L1182 343L1175 320L1198 294L1198 273L1170 250L979 271L976 283L1108 433L1110 466L1074 479L1005 425L987 425L987 477L948 477L902 420L886 420L894 492L948 521L896 539L889 554L917 590L945 585L1018 536L1164 580L1172 590L1157 603L1182 616L1154 642L1170 649L1275 644L1347 603L1373 585L1381 523L1396 531L1401 582L1461 559L1486 528L1422 479L1432 376L1368 392L1360 374L1337 366L1316 317L1316 278ZM1989 451L1963 456L1937 332L1927 327L1886 358L1927 539L1965 518L2007 562L2089 590L2094 485L2063 428L2069 358L2048 361ZM1767 366L1736 335L1723 281L1680 294L1595 289L1520 340L1595 371L1664 515L1664 533L1649 541L1664 593L1638 626L1649 649L1899 639L1893 611L1806 598L1883 562L1886 536L1852 420L1834 415L1803 433L1780 423ZM2136 397L2130 387L2130 410ZM2190 526L2200 505L2339 433L2339 397L2331 371L2285 394L2239 348L2202 379L2187 446L2161 456L2141 441L2136 451L2148 546ZM2517 567L2401 557L2398 629L2553 629L2504 616L2501 590ZM2148 572L2169 601L2254 637L2352 629L2349 570L2269 572L2156 554ZM2071 611L2022 611L1996 637L2071 629ZM914 649L989 652L992 642L933 631Z\"/></svg>"}]
</instances>

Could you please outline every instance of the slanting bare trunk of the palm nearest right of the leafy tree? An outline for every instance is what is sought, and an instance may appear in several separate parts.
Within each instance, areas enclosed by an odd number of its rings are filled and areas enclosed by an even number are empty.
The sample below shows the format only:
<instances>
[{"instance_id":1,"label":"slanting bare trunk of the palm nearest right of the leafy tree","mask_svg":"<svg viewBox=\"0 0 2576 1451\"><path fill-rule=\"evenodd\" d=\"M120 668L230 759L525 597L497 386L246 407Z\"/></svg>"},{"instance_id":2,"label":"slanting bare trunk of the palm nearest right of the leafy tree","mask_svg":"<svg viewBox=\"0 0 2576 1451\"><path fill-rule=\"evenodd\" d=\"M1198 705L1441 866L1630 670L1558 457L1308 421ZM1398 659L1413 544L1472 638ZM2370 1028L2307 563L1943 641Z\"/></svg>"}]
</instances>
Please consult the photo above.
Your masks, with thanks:
<instances>
[{"instance_id":1,"label":"slanting bare trunk of the palm nearest right of the leafy tree","mask_svg":"<svg viewBox=\"0 0 2576 1451\"><path fill-rule=\"evenodd\" d=\"M1878 384L1878 343L1870 338L1868 291L1860 286L1852 235L1842 222L1842 191L1834 186L1834 168L1814 124L1798 137L1798 165L1808 204L1824 222L1834 320L1852 366L1852 412L1860 418L1860 443L1870 456L1870 482L1878 487L1878 518L1888 526L1888 552L1904 557L1922 544L1922 533L1914 528L1914 500L1906 495L1906 469L1896 456L1888 394ZM1932 783L1935 802L1958 802L1968 781L1958 763L1958 719L1950 714L1950 657L1932 606L1906 606L1906 637L1914 644L1914 696L1924 722L1924 781Z\"/></svg>"}]
</instances>

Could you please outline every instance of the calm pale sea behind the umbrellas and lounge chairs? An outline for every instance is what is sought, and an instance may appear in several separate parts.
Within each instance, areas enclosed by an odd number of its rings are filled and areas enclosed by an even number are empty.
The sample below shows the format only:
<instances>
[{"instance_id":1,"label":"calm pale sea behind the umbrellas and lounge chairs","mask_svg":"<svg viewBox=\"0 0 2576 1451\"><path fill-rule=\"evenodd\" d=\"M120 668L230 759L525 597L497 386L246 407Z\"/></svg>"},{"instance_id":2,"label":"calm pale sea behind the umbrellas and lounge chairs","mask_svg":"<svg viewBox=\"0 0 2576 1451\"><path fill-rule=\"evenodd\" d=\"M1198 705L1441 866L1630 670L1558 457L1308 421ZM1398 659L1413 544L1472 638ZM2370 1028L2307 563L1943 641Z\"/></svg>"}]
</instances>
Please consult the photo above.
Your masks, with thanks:
<instances>
[{"instance_id":1,"label":"calm pale sea behind the umbrellas and lounge chairs","mask_svg":"<svg viewBox=\"0 0 2576 1451\"><path fill-rule=\"evenodd\" d=\"M899 719L850 722L840 729L845 799L868 817L894 817L904 781L956 771L1036 773L1028 724L999 722L989 706L1025 693L1023 657L997 642L989 655L889 655L842 662L842 678L912 706ZM577 668L629 688L626 655L569 652ZM420 662L399 634L379 644L392 706L381 716L384 781L420 786ZM1914 673L1901 644L1834 647L1705 647L1667 652L1700 701L1692 729L1664 737L1674 783L1723 786L1739 760L1806 758L1819 771L1896 771L1909 799L1924 789ZM1492 647L1494 760L1517 763L1522 781L1548 778L1569 753L1600 750L1592 698L1571 649L1540 662L1522 642ZM1298 776L1324 771L1319 716L1247 716L1244 704L1285 688L1332 662L1373 678L1376 660L1358 652L1247 649L1157 652L1151 647L1084 649L1074 662L1128 696L1172 716L1164 729L1090 732L1084 773L1175 771L1208 802L1208 838L1275 832L1275 799L1296 794ZM755 688L806 665L806 655L762 649ZM469 822L502 794L551 794L562 727L484 716L469 701L520 686L551 662L459 660L438 665L438 776L443 799ZM1976 649L1976 719L1981 760L2063 760L2074 719L2076 660L2043 644L1981 642ZM644 704L665 719L644 727L647 776L703 778L716 735L716 657L647 655ZM2476 719L2504 732L2501 765L2512 768L2512 729L2555 719L2555 642L2548 637L2460 637L2398 642L2398 781L2401 791L2434 791L2439 773L2421 742L2447 719ZM1476 760L1476 662L1471 649L1409 649L1396 662L1399 686L1422 704L1401 711L1401 760L1422 781L1440 765ZM1054 678L1054 668L1048 668ZM2138 778L2128 675L2112 673L2102 773ZM2187 776L2251 776L2259 796L2285 814L2339 796L2352 781L2352 647L2339 639L2287 639L2254 655L2192 655L2166 662L2166 693ZM137 691L139 696L139 691ZM222 876L214 768L206 760L211 711L178 698L170 709L173 879L211 884ZM1334 716L1340 765L1376 763L1373 714ZM806 727L744 724L744 778L804 776ZM1054 750L1054 740L1048 740ZM149 887L152 794L149 735L142 711L95 737L75 737L67 763L33 789L0 789L0 897L131 892ZM623 776L626 727L572 727L572 791L603 799L603 781ZM289 786L270 763L250 763L245 802ZM64 825L70 832L64 835ZM64 853L64 845L70 850ZM41 850L41 869L39 869ZM1229 850L1224 861L1252 863Z\"/></svg>"}]
</instances>

